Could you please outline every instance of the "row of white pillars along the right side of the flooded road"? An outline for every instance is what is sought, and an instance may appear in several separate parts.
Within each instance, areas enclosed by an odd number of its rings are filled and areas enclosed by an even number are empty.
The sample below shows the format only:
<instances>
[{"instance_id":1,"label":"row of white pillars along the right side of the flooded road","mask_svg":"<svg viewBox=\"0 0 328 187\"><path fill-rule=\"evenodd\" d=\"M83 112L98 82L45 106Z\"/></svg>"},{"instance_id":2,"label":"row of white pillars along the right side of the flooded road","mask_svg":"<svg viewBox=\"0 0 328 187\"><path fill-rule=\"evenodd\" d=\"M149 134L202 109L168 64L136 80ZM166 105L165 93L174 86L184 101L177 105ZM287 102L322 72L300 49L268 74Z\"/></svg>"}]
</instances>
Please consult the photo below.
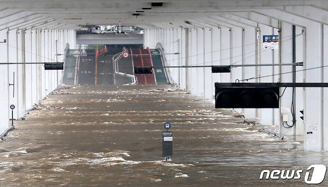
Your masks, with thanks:
<instances>
[{"instance_id":1,"label":"row of white pillars along the right side of the flooded road","mask_svg":"<svg viewBox=\"0 0 328 187\"><path fill-rule=\"evenodd\" d=\"M229 17L229 15L225 15ZM295 18L293 18L295 20ZM203 20L206 20L204 18ZM238 18L243 20L243 18ZM144 46L156 47L161 43L164 53L180 52L179 55L166 55L166 65L231 65L231 64L286 64L293 62L292 28L288 21L278 21L270 24L244 19L236 23L222 20L208 21L188 20L170 22L158 28L145 29ZM248 24L251 21L255 24ZM301 20L300 20L301 21ZM208 25L213 23L212 25ZM327 25L307 21L304 26L296 24L296 62L304 62L304 67L296 70L327 65L324 53L328 45L328 35L324 34ZM159 24L158 24L159 25ZM217 26L215 26L217 25ZM254 26L255 25L255 26ZM265 49L262 44L263 35L279 35L279 49ZM214 98L215 82L235 82L253 77L249 82L285 82L293 81L293 74L276 75L293 71L292 66L275 67L238 67L230 74L211 74L210 68L180 68L168 69L172 82L179 88L204 99ZM328 82L328 68L318 68L311 71L300 71L296 74L296 82ZM326 72L326 74L325 74ZM275 75L275 76L269 76ZM326 76L325 76L326 75ZM284 88L281 88L281 93ZM325 92L326 91L326 92ZM279 126L283 135L304 135L305 149L313 151L328 150L328 128L324 124L328 117L328 101L324 93L326 88L296 89L296 125L284 128L282 115L288 115L288 124L293 124L291 113L292 88L287 88L280 99L279 109L239 109L247 118L259 118L264 125ZM301 120L305 111L305 120ZM286 126L286 125L285 125ZM311 132L311 133L309 133Z\"/></svg>"}]
</instances>

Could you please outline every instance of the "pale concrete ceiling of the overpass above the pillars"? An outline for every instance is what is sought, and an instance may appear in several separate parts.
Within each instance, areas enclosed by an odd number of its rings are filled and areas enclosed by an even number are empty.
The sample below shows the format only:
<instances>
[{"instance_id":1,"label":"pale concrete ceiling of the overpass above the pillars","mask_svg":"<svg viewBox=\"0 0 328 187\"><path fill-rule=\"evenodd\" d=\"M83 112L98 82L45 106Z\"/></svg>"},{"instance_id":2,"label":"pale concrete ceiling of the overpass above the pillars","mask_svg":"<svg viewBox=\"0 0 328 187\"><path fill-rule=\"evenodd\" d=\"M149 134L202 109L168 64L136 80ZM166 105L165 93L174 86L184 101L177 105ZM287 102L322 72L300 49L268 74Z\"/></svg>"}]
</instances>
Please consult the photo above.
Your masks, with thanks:
<instances>
[{"instance_id":1,"label":"pale concrete ceiling of the overpass above the pillars","mask_svg":"<svg viewBox=\"0 0 328 187\"><path fill-rule=\"evenodd\" d=\"M162 7L151 2L163 2ZM79 24L156 27L172 21L255 9L311 6L328 10L327 0L0 0L0 29L20 27L75 28ZM136 12L152 7L144 12ZM133 13L140 13L136 17ZM39 17L39 19L37 19ZM42 19L43 18L43 19ZM30 21L30 23L28 23ZM38 23L36 23L38 21ZM50 24L49 22L52 22ZM38 26L41 25L41 26ZM42 26L44 25L44 27ZM15 27L16 28L16 27Z\"/></svg>"}]
</instances>

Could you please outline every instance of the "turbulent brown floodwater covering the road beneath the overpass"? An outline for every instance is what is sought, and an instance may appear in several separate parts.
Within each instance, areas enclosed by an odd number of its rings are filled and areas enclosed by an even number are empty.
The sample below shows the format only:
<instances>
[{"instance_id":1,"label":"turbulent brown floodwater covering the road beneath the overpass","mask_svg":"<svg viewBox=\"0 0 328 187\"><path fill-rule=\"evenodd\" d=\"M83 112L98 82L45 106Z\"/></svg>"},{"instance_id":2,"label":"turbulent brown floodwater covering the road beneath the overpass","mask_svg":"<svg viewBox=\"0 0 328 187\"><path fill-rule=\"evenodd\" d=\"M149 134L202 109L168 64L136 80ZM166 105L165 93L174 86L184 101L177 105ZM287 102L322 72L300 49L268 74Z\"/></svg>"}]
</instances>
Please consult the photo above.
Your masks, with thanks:
<instances>
[{"instance_id":1,"label":"turbulent brown floodwater covering the road beneath the overpass","mask_svg":"<svg viewBox=\"0 0 328 187\"><path fill-rule=\"evenodd\" d=\"M304 176L259 175L328 163L326 152L304 152L302 141L274 139L233 115L169 87L64 87L0 143L0 186L306 186ZM172 162L162 157L165 121Z\"/></svg>"}]
</instances>

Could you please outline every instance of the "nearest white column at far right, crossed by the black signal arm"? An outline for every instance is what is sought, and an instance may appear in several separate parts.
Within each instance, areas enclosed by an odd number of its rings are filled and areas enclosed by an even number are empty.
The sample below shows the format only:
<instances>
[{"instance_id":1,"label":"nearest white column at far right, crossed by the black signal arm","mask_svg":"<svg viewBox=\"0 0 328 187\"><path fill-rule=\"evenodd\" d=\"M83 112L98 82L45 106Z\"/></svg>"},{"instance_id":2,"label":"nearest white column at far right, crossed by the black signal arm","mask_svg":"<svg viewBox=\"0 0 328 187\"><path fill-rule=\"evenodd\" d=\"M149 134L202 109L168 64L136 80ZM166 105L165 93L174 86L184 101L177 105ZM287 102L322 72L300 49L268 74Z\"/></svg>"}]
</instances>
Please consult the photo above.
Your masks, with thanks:
<instances>
[{"instance_id":1,"label":"nearest white column at far right, crossed by the black signal arm","mask_svg":"<svg viewBox=\"0 0 328 187\"><path fill-rule=\"evenodd\" d=\"M328 65L323 61L322 39L323 39L322 24L311 22L307 25L305 31L306 37L306 61L304 69L320 67L323 64ZM323 82L324 69L314 69L304 72L304 78L307 83ZM304 100L304 122L305 122L305 138L304 148L307 151L322 151L324 150L323 132L324 129L324 110L328 105L323 105L323 89L322 88L305 88Z\"/></svg>"}]
</instances>

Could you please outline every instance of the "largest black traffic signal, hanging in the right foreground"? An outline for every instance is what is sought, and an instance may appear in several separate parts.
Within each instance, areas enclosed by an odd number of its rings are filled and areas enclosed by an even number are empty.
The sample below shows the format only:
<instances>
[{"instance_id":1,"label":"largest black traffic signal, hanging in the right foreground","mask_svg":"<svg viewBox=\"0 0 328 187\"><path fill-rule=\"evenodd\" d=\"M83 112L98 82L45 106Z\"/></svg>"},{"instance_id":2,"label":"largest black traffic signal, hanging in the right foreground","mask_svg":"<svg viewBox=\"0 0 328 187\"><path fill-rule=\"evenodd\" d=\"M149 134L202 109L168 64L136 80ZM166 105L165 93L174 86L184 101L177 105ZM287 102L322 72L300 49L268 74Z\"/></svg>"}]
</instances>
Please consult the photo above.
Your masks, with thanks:
<instances>
[{"instance_id":1,"label":"largest black traffic signal, hanging in the right foreground","mask_svg":"<svg viewBox=\"0 0 328 187\"><path fill-rule=\"evenodd\" d=\"M279 87L215 87L215 108L279 108Z\"/></svg>"}]
</instances>

